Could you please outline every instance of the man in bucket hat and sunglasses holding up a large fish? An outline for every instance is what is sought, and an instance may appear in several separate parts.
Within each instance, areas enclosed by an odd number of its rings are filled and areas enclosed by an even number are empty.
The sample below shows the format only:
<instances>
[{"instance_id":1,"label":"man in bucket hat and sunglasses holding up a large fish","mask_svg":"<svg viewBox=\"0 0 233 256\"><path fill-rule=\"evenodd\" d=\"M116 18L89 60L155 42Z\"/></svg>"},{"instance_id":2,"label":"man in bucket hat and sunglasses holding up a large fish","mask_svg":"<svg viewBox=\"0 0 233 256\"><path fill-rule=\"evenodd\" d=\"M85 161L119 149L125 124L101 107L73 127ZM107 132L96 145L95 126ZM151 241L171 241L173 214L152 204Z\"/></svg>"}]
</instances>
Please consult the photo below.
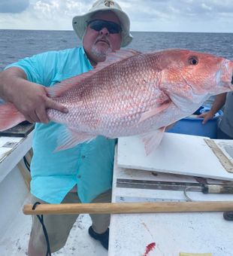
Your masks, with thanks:
<instances>
[{"instance_id":1,"label":"man in bucket hat and sunglasses holding up a large fish","mask_svg":"<svg viewBox=\"0 0 233 256\"><path fill-rule=\"evenodd\" d=\"M33 203L110 202L116 141L99 136L87 144L53 153L63 126L49 122L46 110L68 109L48 98L44 87L87 72L104 61L110 51L128 45L132 41L129 17L116 2L99 0L87 14L74 17L73 27L83 47L41 53L8 66L0 74L0 96L13 102L29 122L36 123L31 163ZM110 215L91 218L90 236L108 248ZM44 215L51 252L65 245L76 219L77 215ZM29 256L46 252L43 229L35 217Z\"/></svg>"}]
</instances>

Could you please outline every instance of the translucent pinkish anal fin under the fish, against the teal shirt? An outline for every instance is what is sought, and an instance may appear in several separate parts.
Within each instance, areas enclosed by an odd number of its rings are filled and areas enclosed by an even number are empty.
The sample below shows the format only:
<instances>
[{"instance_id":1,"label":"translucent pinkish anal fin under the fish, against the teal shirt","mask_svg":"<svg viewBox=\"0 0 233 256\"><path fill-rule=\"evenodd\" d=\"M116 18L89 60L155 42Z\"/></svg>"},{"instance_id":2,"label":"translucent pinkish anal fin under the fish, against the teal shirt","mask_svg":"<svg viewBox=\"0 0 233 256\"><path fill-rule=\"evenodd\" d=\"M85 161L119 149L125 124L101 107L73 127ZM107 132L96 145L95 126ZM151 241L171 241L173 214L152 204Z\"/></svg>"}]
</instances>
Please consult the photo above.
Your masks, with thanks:
<instances>
[{"instance_id":1,"label":"translucent pinkish anal fin under the fish, against the teal shirt","mask_svg":"<svg viewBox=\"0 0 233 256\"><path fill-rule=\"evenodd\" d=\"M62 130L60 135L61 136L59 136L59 139L57 140L57 147L55 151L62 151L68 148L74 148L74 146L83 142L90 142L96 137L88 133L80 133L72 127L68 127L68 129Z\"/></svg>"}]
</instances>

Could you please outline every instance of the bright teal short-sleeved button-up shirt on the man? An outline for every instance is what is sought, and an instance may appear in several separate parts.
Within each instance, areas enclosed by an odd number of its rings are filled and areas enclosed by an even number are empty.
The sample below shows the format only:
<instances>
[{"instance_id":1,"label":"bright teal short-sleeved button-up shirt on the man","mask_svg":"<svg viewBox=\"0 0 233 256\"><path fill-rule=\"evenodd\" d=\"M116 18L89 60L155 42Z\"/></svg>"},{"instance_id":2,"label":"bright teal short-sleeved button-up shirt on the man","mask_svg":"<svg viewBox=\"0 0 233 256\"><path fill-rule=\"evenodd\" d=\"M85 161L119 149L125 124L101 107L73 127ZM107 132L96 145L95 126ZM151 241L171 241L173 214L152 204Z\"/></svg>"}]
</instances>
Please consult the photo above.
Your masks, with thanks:
<instances>
[{"instance_id":1,"label":"bright teal short-sleeved button-up shirt on the man","mask_svg":"<svg viewBox=\"0 0 233 256\"><path fill-rule=\"evenodd\" d=\"M45 87L92 69L83 47L41 53L11 66L23 69L29 81ZM47 203L61 203L77 184L80 200L89 203L111 188L116 140L98 136L92 142L53 152L64 128L59 123L36 123L31 193Z\"/></svg>"}]
</instances>

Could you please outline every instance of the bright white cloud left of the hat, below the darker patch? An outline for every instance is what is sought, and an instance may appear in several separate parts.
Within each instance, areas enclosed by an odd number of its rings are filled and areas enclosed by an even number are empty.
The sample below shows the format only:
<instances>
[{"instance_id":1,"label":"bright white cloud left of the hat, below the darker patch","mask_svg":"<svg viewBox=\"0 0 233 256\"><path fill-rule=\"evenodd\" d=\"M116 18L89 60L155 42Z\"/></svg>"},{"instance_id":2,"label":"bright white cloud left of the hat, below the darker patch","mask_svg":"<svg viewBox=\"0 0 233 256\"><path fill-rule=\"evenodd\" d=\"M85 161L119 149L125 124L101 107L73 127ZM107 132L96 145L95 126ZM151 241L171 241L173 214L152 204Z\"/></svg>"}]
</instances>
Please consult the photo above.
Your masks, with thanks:
<instances>
[{"instance_id":1,"label":"bright white cloud left of the hat, below the darker patch","mask_svg":"<svg viewBox=\"0 0 233 256\"><path fill-rule=\"evenodd\" d=\"M0 13L0 29L70 30L72 18L85 13L91 4L91 0L30 0L23 13Z\"/></svg>"}]
</instances>

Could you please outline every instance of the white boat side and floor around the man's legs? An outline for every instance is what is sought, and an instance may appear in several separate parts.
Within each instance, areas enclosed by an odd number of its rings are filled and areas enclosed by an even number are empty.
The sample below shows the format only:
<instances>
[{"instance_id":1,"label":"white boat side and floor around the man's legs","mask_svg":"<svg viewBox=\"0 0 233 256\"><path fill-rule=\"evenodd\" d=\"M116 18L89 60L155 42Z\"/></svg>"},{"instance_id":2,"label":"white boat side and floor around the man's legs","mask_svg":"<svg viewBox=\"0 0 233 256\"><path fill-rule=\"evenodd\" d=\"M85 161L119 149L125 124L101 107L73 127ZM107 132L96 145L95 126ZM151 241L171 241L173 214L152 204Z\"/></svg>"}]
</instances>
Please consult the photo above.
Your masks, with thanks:
<instances>
[{"instance_id":1,"label":"white boat side and floor around the man's legs","mask_svg":"<svg viewBox=\"0 0 233 256\"><path fill-rule=\"evenodd\" d=\"M13 148L1 148L6 142L19 142ZM23 215L30 203L29 190L17 166L29 151L32 134L26 139L0 137L0 255L27 255L32 217ZM11 145L12 146L12 145ZM89 215L80 215L64 248L53 255L107 256L107 250L88 234Z\"/></svg>"}]
</instances>

